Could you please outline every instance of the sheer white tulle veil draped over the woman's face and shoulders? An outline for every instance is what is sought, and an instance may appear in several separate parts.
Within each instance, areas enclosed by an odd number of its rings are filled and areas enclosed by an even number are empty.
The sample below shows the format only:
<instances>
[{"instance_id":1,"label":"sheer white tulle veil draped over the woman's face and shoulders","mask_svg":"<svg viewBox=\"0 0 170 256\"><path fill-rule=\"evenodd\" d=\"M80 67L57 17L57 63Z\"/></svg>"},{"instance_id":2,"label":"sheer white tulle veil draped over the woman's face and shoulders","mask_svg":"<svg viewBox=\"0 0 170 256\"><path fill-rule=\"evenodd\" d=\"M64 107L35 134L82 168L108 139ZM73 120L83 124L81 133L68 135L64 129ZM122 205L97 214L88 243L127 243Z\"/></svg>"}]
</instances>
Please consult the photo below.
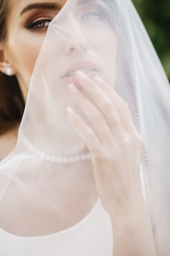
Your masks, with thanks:
<instances>
[{"instance_id":1,"label":"sheer white tulle veil draped over the woman's face and shoulders","mask_svg":"<svg viewBox=\"0 0 170 256\"><path fill-rule=\"evenodd\" d=\"M129 0L68 0L51 21L17 145L0 162L0 235L3 243L10 239L12 248L1 244L1 255L112 255L110 219L100 204L91 152L66 113L71 106L94 128L68 93L74 82L91 100L73 78L76 70L106 81L113 94L99 87L113 104L114 91L128 103L142 141L141 189L155 248L158 256L170 255L170 87ZM121 110L119 114L126 118ZM104 126L97 129L105 131ZM131 159L134 152L129 152ZM71 251L73 247L83 252Z\"/></svg>"}]
</instances>

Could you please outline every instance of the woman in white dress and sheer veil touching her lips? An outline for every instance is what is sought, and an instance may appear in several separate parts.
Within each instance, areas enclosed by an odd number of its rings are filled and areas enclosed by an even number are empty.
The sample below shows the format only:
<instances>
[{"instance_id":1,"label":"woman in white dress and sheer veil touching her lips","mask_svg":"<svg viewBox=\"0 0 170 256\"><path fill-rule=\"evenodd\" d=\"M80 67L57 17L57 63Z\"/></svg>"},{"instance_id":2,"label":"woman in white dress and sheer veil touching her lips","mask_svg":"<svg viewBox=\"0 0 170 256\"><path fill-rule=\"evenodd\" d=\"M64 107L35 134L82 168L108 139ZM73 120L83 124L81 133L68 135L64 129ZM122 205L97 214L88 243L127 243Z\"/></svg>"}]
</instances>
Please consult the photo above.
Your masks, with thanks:
<instances>
[{"instance_id":1,"label":"woman in white dress and sheer veil touching her lips","mask_svg":"<svg viewBox=\"0 0 170 256\"><path fill-rule=\"evenodd\" d=\"M3 9L1 72L15 74L22 92L15 89L18 105L11 99L20 113L11 123L18 125L26 102L15 150L0 166L0 236L15 245L13 255L26 255L21 243L27 255L156 255L155 241L157 255L164 249L160 230L151 225L158 216L149 216L141 190L138 132L143 129L149 148L150 126L139 119L143 76L134 75L140 65L132 58L133 33L126 34L123 7L132 6L122 2L18 0ZM14 128L2 158L15 146ZM2 135L4 144L12 142L9 135ZM147 157L142 160L147 165ZM10 249L2 246L2 253Z\"/></svg>"}]
</instances>

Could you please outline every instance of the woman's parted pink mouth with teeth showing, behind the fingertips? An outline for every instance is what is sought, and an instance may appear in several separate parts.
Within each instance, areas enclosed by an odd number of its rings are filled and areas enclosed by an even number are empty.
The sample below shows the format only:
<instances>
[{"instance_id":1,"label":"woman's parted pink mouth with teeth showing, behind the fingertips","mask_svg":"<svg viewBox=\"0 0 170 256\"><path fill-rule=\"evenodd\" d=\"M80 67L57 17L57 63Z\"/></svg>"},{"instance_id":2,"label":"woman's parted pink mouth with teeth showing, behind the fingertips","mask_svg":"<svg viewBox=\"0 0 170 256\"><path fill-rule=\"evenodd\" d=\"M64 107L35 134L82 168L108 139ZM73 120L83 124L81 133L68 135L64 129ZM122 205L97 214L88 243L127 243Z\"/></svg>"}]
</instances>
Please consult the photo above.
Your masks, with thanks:
<instances>
[{"instance_id":1,"label":"woman's parted pink mouth with teeth showing, behind the fingertips","mask_svg":"<svg viewBox=\"0 0 170 256\"><path fill-rule=\"evenodd\" d=\"M99 72L99 67L93 61L85 60L79 61L68 67L68 69L62 74L62 81L67 85L70 83L74 83L77 87L79 87L79 83L76 79L75 73L80 70L86 76L93 79L93 76L97 75ZM79 88L81 90L81 88Z\"/></svg>"}]
</instances>

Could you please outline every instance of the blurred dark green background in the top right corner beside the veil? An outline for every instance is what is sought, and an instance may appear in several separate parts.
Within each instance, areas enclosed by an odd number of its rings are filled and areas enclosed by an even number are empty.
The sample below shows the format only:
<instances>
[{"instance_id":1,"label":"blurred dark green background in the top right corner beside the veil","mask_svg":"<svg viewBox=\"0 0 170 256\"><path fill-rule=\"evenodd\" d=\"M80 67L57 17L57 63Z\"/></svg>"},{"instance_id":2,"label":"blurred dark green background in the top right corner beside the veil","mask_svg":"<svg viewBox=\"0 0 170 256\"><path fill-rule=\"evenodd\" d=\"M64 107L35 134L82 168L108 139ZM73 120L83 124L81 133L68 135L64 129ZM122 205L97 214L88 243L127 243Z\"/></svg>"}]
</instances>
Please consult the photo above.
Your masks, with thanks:
<instances>
[{"instance_id":1,"label":"blurred dark green background in the top right corner beside the veil","mask_svg":"<svg viewBox=\"0 0 170 256\"><path fill-rule=\"evenodd\" d=\"M170 81L170 0L132 0Z\"/></svg>"}]
</instances>

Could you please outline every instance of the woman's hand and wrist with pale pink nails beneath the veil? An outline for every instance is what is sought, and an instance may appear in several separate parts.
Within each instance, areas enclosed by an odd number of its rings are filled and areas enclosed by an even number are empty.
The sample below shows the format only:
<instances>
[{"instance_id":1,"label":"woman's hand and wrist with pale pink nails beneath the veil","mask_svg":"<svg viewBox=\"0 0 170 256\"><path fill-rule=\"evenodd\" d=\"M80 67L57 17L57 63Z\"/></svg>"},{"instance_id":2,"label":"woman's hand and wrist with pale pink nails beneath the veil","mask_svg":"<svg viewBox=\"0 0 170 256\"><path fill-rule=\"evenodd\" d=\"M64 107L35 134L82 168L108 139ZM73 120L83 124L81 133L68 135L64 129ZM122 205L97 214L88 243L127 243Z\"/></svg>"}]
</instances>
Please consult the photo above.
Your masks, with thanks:
<instances>
[{"instance_id":1,"label":"woman's hand and wrist with pale pink nails beneath the veil","mask_svg":"<svg viewBox=\"0 0 170 256\"><path fill-rule=\"evenodd\" d=\"M95 83L81 71L76 72L76 78L91 100L73 84L68 85L68 91L93 128L70 107L68 117L90 150L99 197L116 223L118 216L129 216L144 202L140 182L141 138L128 105L113 88L98 76L93 79Z\"/></svg>"}]
</instances>

